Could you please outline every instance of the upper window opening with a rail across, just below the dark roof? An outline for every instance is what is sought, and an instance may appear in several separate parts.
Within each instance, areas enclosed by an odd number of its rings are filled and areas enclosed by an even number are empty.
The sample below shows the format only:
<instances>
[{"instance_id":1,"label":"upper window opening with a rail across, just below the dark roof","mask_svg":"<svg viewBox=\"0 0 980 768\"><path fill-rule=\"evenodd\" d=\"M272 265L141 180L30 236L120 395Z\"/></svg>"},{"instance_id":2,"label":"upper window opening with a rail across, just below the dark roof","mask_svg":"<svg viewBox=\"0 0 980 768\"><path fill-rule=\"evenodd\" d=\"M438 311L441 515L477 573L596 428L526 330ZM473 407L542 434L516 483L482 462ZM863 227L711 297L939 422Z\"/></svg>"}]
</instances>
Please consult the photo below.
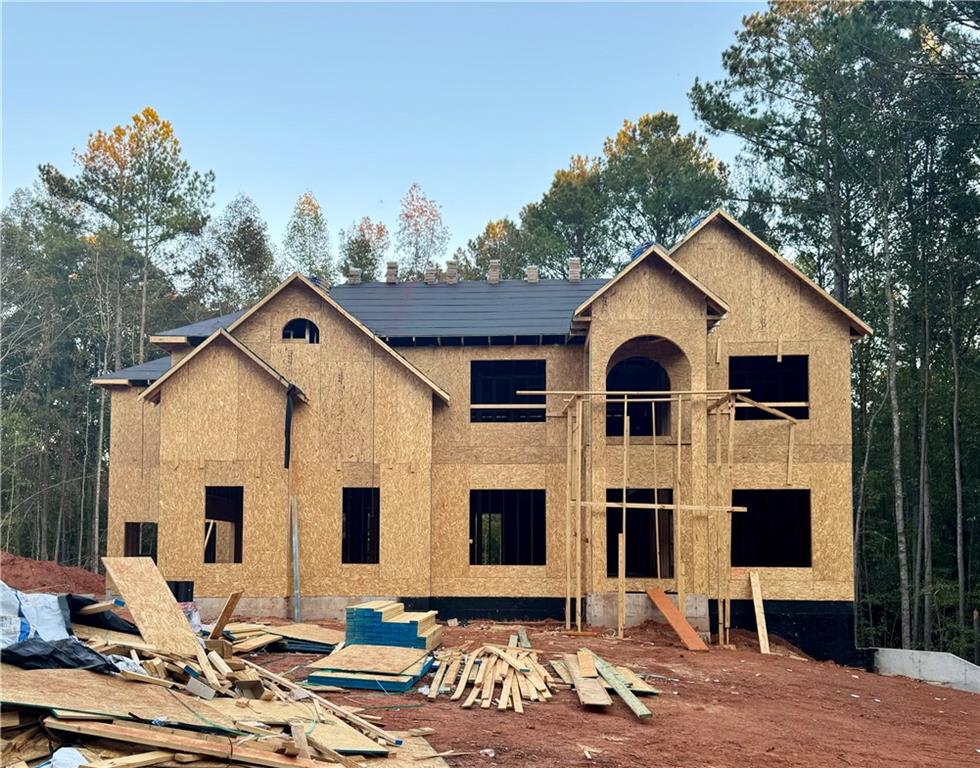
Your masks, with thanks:
<instances>
[{"instance_id":1,"label":"upper window opening with a rail across, just below the dark roof","mask_svg":"<svg viewBox=\"0 0 980 768\"><path fill-rule=\"evenodd\" d=\"M470 421L544 421L544 395L518 395L517 392L543 390L545 384L544 360L473 360L470 362Z\"/></svg>"}]
</instances>

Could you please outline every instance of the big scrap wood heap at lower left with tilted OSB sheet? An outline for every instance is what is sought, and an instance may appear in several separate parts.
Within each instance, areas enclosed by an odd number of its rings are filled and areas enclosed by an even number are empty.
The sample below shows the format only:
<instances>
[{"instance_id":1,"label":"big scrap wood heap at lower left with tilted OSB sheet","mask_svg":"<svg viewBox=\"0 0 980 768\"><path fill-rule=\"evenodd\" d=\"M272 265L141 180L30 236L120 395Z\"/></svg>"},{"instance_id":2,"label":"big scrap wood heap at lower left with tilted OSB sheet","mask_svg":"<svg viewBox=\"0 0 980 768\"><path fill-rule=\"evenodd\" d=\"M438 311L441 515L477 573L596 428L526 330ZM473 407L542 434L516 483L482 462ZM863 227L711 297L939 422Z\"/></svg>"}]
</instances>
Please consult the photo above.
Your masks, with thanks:
<instances>
[{"instance_id":1,"label":"big scrap wood heap at lower left with tilted OSB sheet","mask_svg":"<svg viewBox=\"0 0 980 768\"><path fill-rule=\"evenodd\" d=\"M151 560L104 563L140 639L107 638L109 630L96 628L103 634L90 638L92 645L125 652L106 656L71 638L87 659L98 660L91 667L98 672L39 668L53 666L48 659L20 664L26 668L2 664L3 765L36 765L59 745L74 745L69 756L59 755L59 765L98 768L353 767L360 763L350 755L380 760L395 747L409 748L356 711L235 658L227 639L197 637ZM10 647L4 662L13 658ZM431 753L424 742L410 748Z\"/></svg>"}]
</instances>

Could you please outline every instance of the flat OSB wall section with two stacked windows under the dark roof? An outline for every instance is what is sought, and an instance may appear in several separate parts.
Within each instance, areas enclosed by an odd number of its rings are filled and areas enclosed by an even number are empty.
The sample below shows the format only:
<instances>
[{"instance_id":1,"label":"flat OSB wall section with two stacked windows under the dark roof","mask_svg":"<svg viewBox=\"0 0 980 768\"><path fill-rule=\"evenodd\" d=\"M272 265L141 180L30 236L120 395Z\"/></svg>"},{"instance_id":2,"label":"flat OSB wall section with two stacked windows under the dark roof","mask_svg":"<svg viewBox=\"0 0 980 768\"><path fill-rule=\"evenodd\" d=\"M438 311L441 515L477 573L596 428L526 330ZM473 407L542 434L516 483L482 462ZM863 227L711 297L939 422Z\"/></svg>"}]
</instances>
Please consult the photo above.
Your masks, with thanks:
<instances>
[{"instance_id":1,"label":"flat OSB wall section with two stacked windows under the dark roof","mask_svg":"<svg viewBox=\"0 0 980 768\"><path fill-rule=\"evenodd\" d=\"M432 455L432 594L559 597L565 594L564 419L544 423L471 423L473 360L544 360L548 389L580 389L582 346L410 347L402 350L449 393L437 407ZM563 400L548 398L547 412ZM469 492L545 490L546 564L470 565Z\"/></svg>"}]
</instances>

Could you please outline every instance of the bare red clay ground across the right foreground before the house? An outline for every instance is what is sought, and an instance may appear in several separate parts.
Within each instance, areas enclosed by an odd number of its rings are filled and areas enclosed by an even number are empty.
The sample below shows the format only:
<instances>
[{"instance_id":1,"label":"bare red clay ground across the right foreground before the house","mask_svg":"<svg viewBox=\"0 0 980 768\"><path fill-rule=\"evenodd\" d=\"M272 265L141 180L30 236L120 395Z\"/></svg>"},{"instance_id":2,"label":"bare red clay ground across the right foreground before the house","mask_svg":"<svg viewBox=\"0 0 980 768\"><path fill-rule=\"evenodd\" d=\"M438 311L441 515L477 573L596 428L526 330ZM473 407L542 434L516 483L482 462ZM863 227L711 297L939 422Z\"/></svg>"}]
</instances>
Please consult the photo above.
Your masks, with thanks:
<instances>
[{"instance_id":1,"label":"bare red clay ground across the right foreground before the house","mask_svg":"<svg viewBox=\"0 0 980 768\"><path fill-rule=\"evenodd\" d=\"M586 710L564 689L547 703L526 703L523 715L496 706L462 709L446 695L429 701L417 692L329 697L364 707L386 728L431 727L427 738L440 752L477 753L446 757L454 768L980 766L975 694L811 661L778 640L778 655L762 656L747 633L736 633L737 650L692 653L659 624L631 629L622 641L565 636L555 624L525 626L544 662L587 646L607 661L659 676L648 679L661 695L643 699L653 716L638 720L615 694L613 706ZM444 647L506 644L514 631L504 625L447 628ZM278 672L313 658L255 656ZM305 670L290 676L302 679ZM478 754L483 749L494 750L492 761Z\"/></svg>"}]
</instances>

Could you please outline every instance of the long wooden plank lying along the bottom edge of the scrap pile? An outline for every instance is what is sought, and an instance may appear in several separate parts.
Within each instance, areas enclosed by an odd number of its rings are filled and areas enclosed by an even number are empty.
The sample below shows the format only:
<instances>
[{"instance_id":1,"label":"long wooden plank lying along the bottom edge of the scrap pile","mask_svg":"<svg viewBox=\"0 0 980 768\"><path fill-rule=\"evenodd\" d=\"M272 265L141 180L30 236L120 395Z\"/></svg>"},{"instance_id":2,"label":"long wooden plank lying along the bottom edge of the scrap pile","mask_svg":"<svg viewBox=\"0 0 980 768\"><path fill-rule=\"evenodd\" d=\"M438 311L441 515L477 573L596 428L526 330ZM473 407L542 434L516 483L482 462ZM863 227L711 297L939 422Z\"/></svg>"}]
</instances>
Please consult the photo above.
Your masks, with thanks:
<instances>
[{"instance_id":1,"label":"long wooden plank lying along the bottom edge of the scrap pile","mask_svg":"<svg viewBox=\"0 0 980 768\"><path fill-rule=\"evenodd\" d=\"M184 735L172 728L140 728L131 723L123 725L119 723L64 722L54 717L45 718L44 724L53 731L77 733L83 736L125 741L132 744L145 744L163 749L179 749L182 752L192 754L209 755L225 760L233 759L236 763L257 765L262 766L262 768L318 768L320 765L313 760L287 757L267 749L259 749L242 743L233 737L205 739L191 735L190 731Z\"/></svg>"}]
</instances>

